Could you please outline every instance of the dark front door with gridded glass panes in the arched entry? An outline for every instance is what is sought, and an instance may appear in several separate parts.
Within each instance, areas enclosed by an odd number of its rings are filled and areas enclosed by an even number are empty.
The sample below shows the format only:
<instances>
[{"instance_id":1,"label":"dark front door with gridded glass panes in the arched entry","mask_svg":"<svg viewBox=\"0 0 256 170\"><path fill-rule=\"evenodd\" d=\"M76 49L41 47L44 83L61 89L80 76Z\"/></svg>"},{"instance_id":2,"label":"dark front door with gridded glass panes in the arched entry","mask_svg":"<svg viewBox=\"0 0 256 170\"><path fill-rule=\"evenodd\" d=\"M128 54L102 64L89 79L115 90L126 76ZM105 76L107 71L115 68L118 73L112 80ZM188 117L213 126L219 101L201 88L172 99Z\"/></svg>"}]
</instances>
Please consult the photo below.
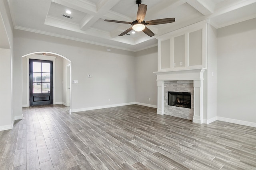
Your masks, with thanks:
<instances>
[{"instance_id":1,"label":"dark front door with gridded glass panes in the arched entry","mask_svg":"<svg viewBox=\"0 0 256 170\"><path fill-rule=\"evenodd\" d=\"M30 106L53 104L52 61L29 59Z\"/></svg>"}]
</instances>

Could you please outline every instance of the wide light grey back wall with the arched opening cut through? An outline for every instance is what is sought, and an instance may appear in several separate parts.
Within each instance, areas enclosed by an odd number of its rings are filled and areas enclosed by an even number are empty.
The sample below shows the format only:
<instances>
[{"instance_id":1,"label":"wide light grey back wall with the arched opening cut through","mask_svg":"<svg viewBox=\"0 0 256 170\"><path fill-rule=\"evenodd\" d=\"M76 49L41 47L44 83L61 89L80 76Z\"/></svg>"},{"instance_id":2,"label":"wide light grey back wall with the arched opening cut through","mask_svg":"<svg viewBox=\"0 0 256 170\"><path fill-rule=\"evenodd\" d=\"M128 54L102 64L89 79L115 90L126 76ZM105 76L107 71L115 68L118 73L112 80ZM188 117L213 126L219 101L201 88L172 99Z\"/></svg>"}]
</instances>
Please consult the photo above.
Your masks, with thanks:
<instances>
[{"instance_id":1,"label":"wide light grey back wall with the arched opening cut through","mask_svg":"<svg viewBox=\"0 0 256 170\"><path fill-rule=\"evenodd\" d=\"M22 56L36 51L50 51L72 63L72 111L135 102L135 53L15 30L15 79L21 84ZM92 77L88 78L88 74ZM22 107L22 89L16 88ZM110 99L110 101L109 101ZM62 100L62 98L61 98Z\"/></svg>"}]
</instances>

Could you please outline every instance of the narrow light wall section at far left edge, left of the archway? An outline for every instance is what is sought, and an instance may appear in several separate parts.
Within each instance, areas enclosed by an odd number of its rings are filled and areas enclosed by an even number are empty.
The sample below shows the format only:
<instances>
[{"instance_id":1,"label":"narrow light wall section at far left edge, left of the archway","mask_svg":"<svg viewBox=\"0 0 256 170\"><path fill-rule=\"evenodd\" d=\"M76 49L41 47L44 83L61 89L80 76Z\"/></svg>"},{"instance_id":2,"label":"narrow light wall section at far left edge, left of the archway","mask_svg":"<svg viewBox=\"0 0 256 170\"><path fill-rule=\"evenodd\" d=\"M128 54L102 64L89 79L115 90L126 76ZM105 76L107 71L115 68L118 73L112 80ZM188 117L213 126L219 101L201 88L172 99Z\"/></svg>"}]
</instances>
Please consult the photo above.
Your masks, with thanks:
<instances>
[{"instance_id":1,"label":"narrow light wall section at far left edge, left of the archway","mask_svg":"<svg viewBox=\"0 0 256 170\"><path fill-rule=\"evenodd\" d=\"M14 108L14 35L7 1L0 1L0 130L11 129L16 115ZM3 42L3 39L4 42Z\"/></svg>"}]
</instances>

